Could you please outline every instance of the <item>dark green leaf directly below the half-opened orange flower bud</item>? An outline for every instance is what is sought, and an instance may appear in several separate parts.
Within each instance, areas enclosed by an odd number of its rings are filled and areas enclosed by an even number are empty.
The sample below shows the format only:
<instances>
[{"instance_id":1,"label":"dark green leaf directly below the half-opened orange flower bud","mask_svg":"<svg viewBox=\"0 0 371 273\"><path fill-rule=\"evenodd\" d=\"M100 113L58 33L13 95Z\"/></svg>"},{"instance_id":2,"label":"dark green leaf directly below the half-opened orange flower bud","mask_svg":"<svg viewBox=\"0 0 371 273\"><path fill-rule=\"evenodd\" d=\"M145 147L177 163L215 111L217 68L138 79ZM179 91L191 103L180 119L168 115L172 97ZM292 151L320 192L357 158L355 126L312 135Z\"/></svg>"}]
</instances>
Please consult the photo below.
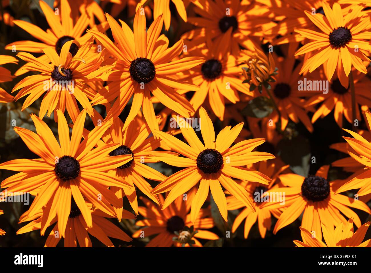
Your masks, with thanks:
<instances>
[{"instance_id":1,"label":"dark green leaf directly below the half-opened orange flower bud","mask_svg":"<svg viewBox=\"0 0 371 273\"><path fill-rule=\"evenodd\" d=\"M263 118L269 116L274 110L272 101L264 96L254 98L247 103L241 111L245 116Z\"/></svg>"}]
</instances>

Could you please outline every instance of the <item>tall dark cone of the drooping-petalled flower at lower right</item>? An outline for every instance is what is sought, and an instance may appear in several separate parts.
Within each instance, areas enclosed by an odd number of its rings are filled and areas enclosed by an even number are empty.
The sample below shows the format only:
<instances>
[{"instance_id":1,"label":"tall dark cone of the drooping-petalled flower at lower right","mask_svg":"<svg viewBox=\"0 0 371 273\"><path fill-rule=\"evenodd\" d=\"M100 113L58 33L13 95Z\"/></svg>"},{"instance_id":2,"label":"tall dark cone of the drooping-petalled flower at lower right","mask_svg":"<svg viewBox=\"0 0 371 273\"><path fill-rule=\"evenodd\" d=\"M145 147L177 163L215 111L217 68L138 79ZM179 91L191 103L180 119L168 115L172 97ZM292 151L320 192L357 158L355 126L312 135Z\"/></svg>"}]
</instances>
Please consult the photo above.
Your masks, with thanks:
<instances>
[{"instance_id":1,"label":"tall dark cone of the drooping-petalled flower at lower right","mask_svg":"<svg viewBox=\"0 0 371 273\"><path fill-rule=\"evenodd\" d=\"M321 176L308 176L302 184L302 194L314 202L325 200L330 194L330 184Z\"/></svg>"}]
</instances>

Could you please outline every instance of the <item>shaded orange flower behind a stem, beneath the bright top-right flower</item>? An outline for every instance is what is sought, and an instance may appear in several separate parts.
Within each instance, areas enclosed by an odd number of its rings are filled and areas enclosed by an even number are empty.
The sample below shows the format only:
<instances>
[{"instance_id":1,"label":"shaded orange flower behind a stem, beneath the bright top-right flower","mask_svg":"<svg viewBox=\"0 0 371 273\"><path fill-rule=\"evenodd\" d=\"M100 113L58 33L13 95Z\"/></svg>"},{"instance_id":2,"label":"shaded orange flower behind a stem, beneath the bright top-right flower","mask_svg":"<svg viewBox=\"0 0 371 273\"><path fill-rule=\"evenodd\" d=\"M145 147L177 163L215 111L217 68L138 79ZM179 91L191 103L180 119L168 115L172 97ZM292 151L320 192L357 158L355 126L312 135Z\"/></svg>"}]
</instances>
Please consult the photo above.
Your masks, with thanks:
<instances>
[{"instance_id":1,"label":"shaded orange flower behind a stem, beneath the bright top-right flower","mask_svg":"<svg viewBox=\"0 0 371 273\"><path fill-rule=\"evenodd\" d=\"M370 79L366 74L363 74L356 69L352 69L354 77L354 90L355 90L355 118L361 120L361 113L359 106L362 109L371 107L371 94L365 92L371 85ZM320 71L319 74L323 74ZM317 74L318 75L318 74ZM321 78L324 76L320 76ZM343 116L345 119L353 124L355 121L352 117L352 94L351 90L345 88L339 78L334 77L329 81L328 94L314 95L305 103L306 107L313 107L321 104L312 116L312 123L315 123L318 118L324 118L334 110L334 118L340 128L343 127Z\"/></svg>"}]
</instances>

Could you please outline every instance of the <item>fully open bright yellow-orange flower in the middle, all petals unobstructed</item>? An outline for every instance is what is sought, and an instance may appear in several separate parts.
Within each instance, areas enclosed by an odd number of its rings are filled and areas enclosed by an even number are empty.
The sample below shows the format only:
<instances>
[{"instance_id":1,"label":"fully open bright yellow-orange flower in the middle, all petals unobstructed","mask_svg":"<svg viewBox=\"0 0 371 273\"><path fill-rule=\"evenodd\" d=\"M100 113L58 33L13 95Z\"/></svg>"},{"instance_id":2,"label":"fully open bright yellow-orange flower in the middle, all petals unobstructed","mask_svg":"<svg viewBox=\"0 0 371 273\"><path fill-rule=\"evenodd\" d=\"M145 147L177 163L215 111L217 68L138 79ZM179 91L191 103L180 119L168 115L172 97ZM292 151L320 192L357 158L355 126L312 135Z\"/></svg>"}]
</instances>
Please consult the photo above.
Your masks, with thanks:
<instances>
[{"instance_id":1,"label":"fully open bright yellow-orange flower in the middle, all petals unobstructed","mask_svg":"<svg viewBox=\"0 0 371 273\"><path fill-rule=\"evenodd\" d=\"M200 107L199 112L204 144L198 139L193 128L188 123L186 125L186 121L181 118L179 119L181 123L180 130L189 145L170 134L161 131L156 132L172 150L185 157L175 155L152 157L169 165L184 168L157 185L153 189L152 194L170 191L162 205L162 209L165 209L175 198L196 186L200 181L197 194L191 206L192 222L196 221L196 216L209 194L209 188L221 216L227 221L227 201L221 186L246 207L254 210L253 203L246 189L234 182L231 177L268 185L268 182L271 181L268 176L256 170L240 166L272 159L274 156L270 153L252 152L255 147L264 142L264 139L248 139L230 147L240 133L243 123L233 128L231 126L225 127L215 139L213 123L207 116L205 109Z\"/></svg>"}]
</instances>

